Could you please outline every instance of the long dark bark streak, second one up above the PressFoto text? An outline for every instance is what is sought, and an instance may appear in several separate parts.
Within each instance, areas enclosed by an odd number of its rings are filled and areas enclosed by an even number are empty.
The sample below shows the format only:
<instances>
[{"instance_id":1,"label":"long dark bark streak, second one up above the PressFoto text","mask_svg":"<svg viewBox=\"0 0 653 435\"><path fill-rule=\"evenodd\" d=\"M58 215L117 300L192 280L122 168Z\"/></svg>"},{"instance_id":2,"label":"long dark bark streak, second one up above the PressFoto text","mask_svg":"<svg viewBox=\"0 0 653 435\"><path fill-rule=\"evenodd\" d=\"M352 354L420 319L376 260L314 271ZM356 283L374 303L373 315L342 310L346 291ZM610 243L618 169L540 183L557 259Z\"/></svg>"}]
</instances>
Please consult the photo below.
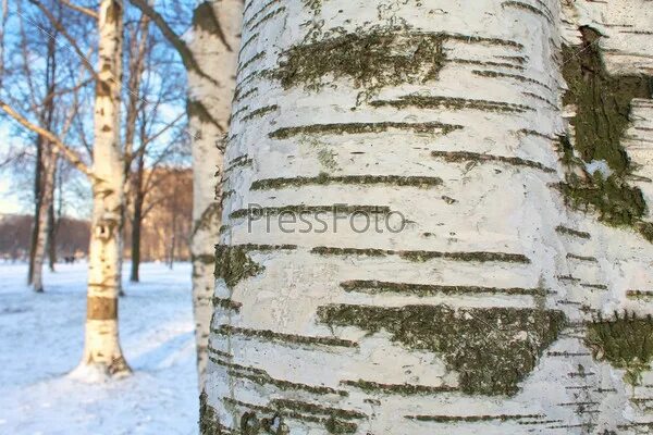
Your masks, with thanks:
<instances>
[{"instance_id":1,"label":"long dark bark streak, second one up above the PressFoto text","mask_svg":"<svg viewBox=\"0 0 653 435\"><path fill-rule=\"evenodd\" d=\"M443 124L439 122L403 123L341 123L341 124L311 124L275 129L268 136L272 139L287 139L297 135L360 135L369 133L384 133L389 129L402 129L415 133L436 133L446 135L463 128L461 125Z\"/></svg>"}]
</instances>

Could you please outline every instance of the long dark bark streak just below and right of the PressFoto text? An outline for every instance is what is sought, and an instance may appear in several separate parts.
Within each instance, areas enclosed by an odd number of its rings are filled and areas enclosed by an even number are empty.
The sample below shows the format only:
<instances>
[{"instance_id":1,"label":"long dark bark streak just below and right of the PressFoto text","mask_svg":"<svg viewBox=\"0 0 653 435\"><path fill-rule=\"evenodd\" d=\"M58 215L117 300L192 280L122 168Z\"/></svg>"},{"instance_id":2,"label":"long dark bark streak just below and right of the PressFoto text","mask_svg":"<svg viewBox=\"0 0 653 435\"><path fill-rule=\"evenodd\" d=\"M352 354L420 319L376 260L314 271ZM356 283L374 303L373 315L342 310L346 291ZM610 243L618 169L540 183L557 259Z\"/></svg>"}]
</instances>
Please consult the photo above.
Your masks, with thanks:
<instances>
[{"instance_id":1,"label":"long dark bark streak just below and right of the PressFoto text","mask_svg":"<svg viewBox=\"0 0 653 435\"><path fill-rule=\"evenodd\" d=\"M335 248L320 246L311 249L312 253L322 256L399 256L403 259L410 261L427 261L431 259L446 259L456 261L500 261L512 263L530 263L530 259L521 253L507 252L442 252L442 251L397 251L391 249L374 249L374 248Z\"/></svg>"}]
</instances>

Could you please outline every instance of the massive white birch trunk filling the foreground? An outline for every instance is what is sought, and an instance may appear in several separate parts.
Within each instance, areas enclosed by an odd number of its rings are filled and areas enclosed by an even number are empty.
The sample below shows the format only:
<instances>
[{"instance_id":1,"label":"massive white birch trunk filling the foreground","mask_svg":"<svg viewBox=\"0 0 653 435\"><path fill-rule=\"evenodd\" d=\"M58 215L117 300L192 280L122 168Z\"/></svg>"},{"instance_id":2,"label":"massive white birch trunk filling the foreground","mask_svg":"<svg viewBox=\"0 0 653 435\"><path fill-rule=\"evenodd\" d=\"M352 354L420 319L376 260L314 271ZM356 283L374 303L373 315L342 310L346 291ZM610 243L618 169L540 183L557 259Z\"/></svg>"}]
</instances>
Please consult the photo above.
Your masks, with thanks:
<instances>
[{"instance_id":1,"label":"massive white birch trunk filling the foreground","mask_svg":"<svg viewBox=\"0 0 653 435\"><path fill-rule=\"evenodd\" d=\"M649 433L636 3L247 2L201 433Z\"/></svg>"}]
</instances>

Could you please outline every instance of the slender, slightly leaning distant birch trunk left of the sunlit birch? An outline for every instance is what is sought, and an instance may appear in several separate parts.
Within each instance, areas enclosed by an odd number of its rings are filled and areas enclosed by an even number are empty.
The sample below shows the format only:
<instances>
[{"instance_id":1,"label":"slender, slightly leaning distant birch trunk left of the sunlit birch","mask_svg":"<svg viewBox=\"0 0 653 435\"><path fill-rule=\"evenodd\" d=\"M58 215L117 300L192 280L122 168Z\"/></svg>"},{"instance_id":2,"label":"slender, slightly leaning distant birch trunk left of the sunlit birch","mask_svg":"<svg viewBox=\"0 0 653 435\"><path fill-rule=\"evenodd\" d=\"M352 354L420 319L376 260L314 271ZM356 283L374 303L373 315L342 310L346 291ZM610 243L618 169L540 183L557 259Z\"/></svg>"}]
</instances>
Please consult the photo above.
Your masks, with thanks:
<instances>
[{"instance_id":1,"label":"slender, slightly leaning distant birch trunk left of the sunlit birch","mask_svg":"<svg viewBox=\"0 0 653 435\"><path fill-rule=\"evenodd\" d=\"M49 144L42 149L42 172L40 198L38 200L38 213L35 222L37 228L36 245L34 247L34 273L32 289L36 293L44 291L44 261L46 259L46 245L50 233L50 208L52 207L54 194L54 175L57 173L58 152Z\"/></svg>"}]
</instances>

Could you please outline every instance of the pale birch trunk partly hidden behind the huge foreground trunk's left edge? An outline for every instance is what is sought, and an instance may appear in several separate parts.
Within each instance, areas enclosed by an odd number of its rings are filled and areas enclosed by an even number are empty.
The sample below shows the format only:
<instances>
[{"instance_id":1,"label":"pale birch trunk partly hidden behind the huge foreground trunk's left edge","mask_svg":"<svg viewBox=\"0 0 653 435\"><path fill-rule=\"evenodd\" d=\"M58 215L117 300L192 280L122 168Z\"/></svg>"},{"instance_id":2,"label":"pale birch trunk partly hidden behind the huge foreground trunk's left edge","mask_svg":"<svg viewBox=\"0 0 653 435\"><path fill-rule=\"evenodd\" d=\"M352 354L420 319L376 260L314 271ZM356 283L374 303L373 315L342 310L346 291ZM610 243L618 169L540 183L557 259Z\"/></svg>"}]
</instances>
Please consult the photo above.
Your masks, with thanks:
<instances>
[{"instance_id":1,"label":"pale birch trunk partly hidden behind the huge foreground trunk's left edge","mask_svg":"<svg viewBox=\"0 0 653 435\"><path fill-rule=\"evenodd\" d=\"M189 48L207 75L188 75L193 139L193 307L200 385L207 362L215 278L214 246L221 223L223 136L229 127L239 46L242 0L204 2L195 11Z\"/></svg>"}]
</instances>

